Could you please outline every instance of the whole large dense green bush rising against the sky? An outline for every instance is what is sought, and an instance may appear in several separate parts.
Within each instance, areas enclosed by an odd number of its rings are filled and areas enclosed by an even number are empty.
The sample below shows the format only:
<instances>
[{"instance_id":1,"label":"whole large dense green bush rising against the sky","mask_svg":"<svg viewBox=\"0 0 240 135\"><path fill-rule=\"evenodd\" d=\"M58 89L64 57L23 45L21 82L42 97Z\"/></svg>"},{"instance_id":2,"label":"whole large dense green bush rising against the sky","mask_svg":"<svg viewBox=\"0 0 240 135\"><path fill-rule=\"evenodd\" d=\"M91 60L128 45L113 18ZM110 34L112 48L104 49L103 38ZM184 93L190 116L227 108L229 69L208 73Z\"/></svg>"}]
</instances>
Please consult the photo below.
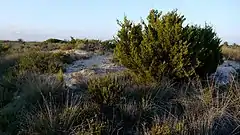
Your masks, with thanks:
<instances>
[{"instance_id":1,"label":"whole large dense green bush rising against the sky","mask_svg":"<svg viewBox=\"0 0 240 135\"><path fill-rule=\"evenodd\" d=\"M222 62L220 39L210 26L184 26L186 19L176 10L164 15L151 10L147 20L118 21L115 48L119 62L144 80L205 77Z\"/></svg>"}]
</instances>

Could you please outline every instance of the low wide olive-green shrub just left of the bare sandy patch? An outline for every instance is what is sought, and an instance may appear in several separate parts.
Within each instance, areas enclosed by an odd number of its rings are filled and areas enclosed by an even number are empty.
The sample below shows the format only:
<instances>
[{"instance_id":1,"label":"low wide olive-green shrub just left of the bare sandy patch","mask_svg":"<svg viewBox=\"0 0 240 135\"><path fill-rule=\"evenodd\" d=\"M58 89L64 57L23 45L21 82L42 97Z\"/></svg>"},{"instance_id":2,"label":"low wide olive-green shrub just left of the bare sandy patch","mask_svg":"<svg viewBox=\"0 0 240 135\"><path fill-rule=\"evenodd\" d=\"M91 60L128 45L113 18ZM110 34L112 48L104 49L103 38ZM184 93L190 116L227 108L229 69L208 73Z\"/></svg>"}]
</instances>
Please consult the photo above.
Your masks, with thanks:
<instances>
[{"instance_id":1,"label":"low wide olive-green shrub just left of the bare sandy patch","mask_svg":"<svg viewBox=\"0 0 240 135\"><path fill-rule=\"evenodd\" d=\"M57 73L64 69L64 63L71 63L71 58L62 53L30 52L20 58L18 70Z\"/></svg>"}]
</instances>

